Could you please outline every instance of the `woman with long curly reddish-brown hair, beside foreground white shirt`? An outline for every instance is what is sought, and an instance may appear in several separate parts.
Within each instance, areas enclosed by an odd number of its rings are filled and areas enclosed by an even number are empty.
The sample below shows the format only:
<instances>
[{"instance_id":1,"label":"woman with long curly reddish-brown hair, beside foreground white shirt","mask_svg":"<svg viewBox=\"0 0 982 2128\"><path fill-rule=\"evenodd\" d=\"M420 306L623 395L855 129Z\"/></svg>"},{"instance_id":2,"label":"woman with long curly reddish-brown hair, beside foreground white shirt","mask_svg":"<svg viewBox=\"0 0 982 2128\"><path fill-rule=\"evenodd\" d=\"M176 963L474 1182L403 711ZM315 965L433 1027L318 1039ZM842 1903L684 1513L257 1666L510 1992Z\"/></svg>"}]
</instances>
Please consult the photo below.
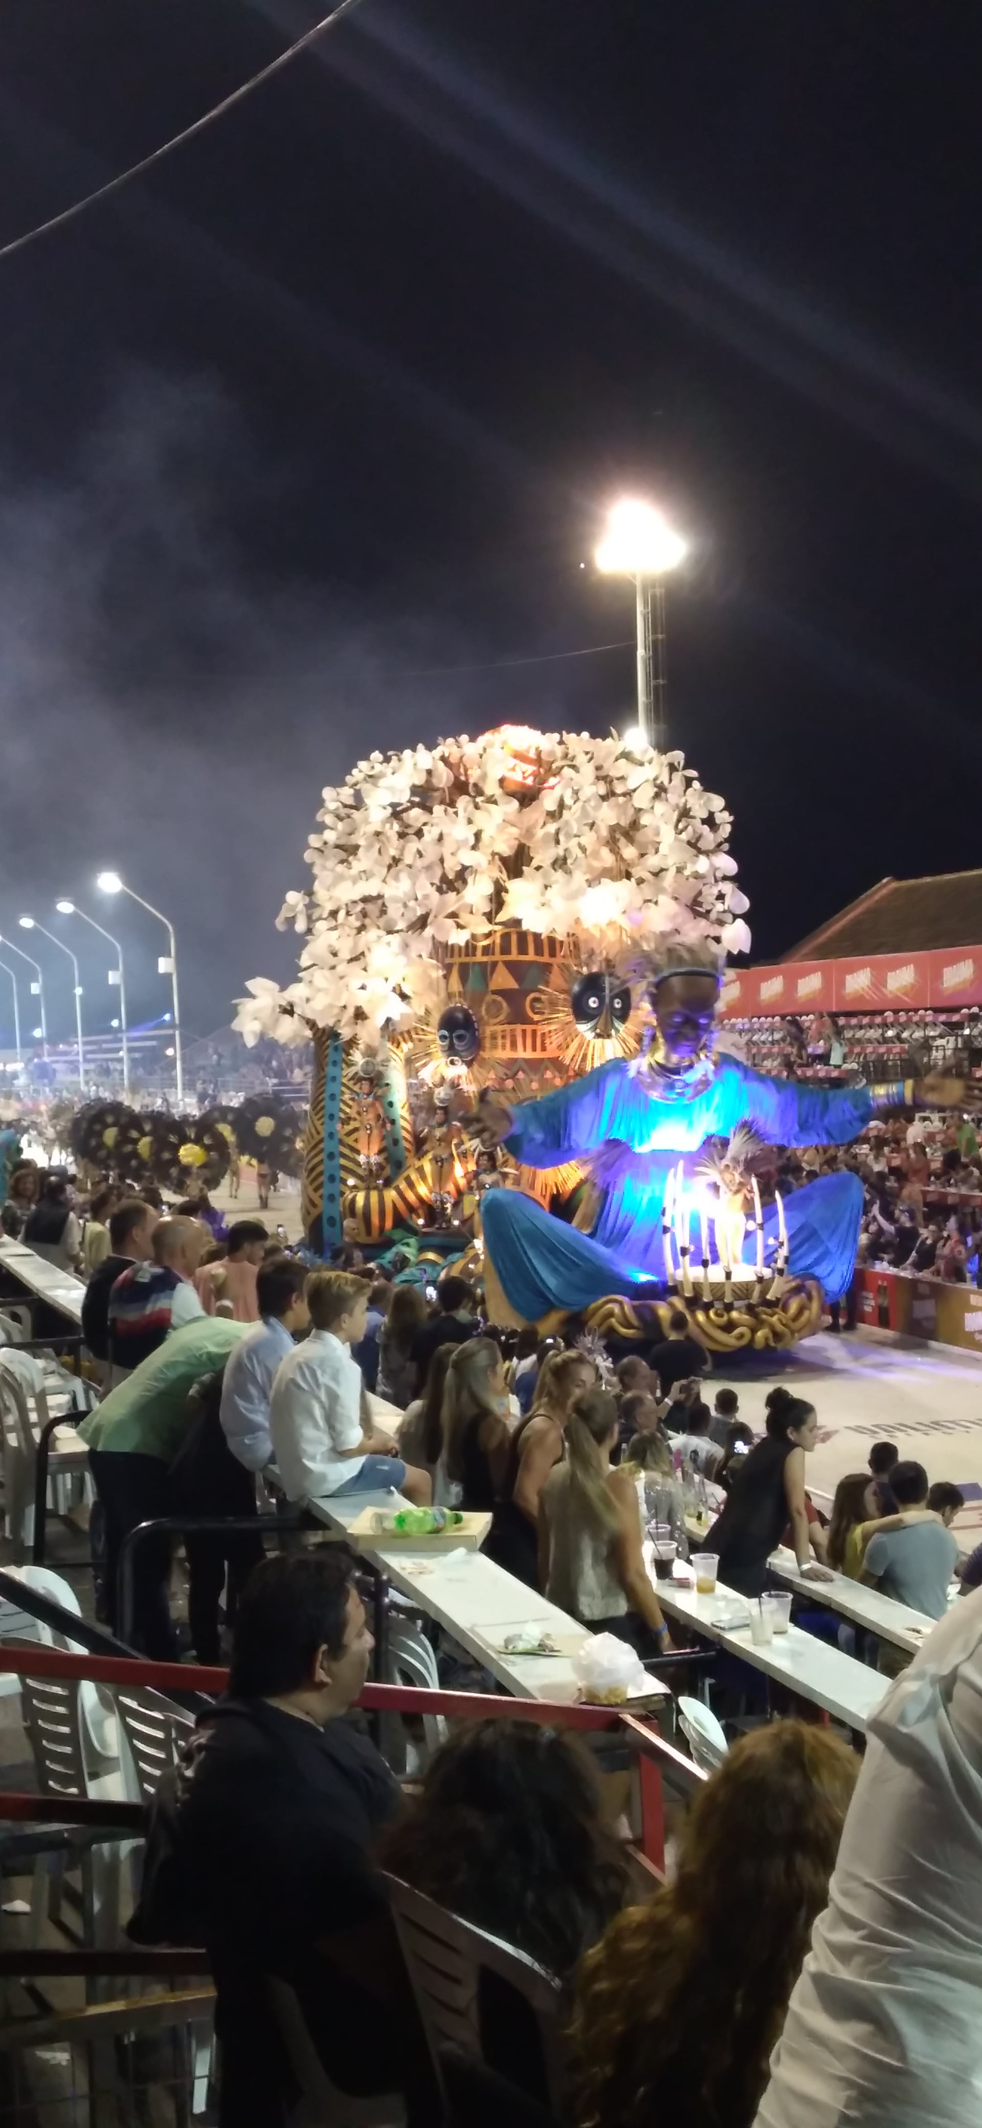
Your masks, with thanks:
<instances>
[{"instance_id":1,"label":"woman with long curly reddish-brown hair, beside foreground white shirt","mask_svg":"<svg viewBox=\"0 0 982 2128\"><path fill-rule=\"evenodd\" d=\"M585 1960L578 2128L748 2128L857 1775L857 1753L806 1722L733 1745L693 1802L674 1883Z\"/></svg>"}]
</instances>

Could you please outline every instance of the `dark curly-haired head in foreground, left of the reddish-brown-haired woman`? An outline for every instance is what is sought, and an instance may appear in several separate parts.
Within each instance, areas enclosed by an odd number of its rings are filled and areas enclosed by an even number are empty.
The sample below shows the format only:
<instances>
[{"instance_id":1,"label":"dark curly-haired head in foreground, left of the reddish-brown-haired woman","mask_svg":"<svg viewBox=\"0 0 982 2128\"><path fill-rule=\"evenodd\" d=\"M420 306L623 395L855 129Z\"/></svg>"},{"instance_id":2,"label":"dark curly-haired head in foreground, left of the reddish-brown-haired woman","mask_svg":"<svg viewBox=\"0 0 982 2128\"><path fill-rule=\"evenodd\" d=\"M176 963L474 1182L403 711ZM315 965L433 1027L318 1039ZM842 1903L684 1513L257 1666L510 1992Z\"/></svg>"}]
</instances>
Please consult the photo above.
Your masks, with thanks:
<instances>
[{"instance_id":1,"label":"dark curly-haired head in foreground, left of the reddish-brown-haired woman","mask_svg":"<svg viewBox=\"0 0 982 2128\"><path fill-rule=\"evenodd\" d=\"M627 1894L587 1751L538 1722L476 1722L436 1751L378 1862L565 1979Z\"/></svg>"}]
</instances>

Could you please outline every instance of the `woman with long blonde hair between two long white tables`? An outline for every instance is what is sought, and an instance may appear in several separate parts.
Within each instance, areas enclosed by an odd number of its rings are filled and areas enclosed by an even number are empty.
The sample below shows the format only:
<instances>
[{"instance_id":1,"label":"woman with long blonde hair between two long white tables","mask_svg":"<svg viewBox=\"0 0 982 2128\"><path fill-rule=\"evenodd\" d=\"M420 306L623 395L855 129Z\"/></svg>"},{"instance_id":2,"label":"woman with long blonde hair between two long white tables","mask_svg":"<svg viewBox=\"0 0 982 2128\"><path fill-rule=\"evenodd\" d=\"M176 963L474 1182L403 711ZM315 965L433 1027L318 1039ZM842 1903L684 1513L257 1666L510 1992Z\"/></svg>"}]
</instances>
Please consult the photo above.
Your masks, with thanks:
<instances>
[{"instance_id":1,"label":"woman with long blonde hair between two long white tables","mask_svg":"<svg viewBox=\"0 0 982 2128\"><path fill-rule=\"evenodd\" d=\"M587 1390L574 1398L565 1462L540 1498L540 1581L548 1600L591 1632L616 1632L640 1653L659 1653L667 1626L644 1566L633 1475L610 1464L616 1430L612 1396Z\"/></svg>"}]
</instances>

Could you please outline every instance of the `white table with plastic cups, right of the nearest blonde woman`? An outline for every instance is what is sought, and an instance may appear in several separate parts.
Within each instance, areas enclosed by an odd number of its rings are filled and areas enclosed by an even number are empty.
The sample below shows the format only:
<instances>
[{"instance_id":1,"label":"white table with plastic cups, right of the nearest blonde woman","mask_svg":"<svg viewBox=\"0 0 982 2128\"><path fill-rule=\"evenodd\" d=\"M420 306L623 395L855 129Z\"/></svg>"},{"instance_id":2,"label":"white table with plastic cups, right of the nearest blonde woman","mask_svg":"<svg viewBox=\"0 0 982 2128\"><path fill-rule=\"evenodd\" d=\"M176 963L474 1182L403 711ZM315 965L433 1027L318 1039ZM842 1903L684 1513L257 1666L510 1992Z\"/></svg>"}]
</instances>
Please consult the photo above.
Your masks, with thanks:
<instances>
[{"instance_id":1,"label":"white table with plastic cups, right of the nearest blonde woman","mask_svg":"<svg viewBox=\"0 0 982 2128\"><path fill-rule=\"evenodd\" d=\"M823 1585L816 1581L806 1583L808 1590ZM744 1628L716 1626L716 1611L733 1605L748 1609L744 1596L721 1583L712 1596L697 1596L695 1587L687 1587L682 1581L657 1581L655 1587L665 1617L693 1626L704 1639L714 1641L716 1647L725 1647L727 1653L738 1656L740 1662L748 1662L755 1670L763 1670L765 1677L786 1685L797 1698L823 1707L835 1722L844 1722L852 1730L865 1730L869 1715L876 1713L888 1679L880 1677L878 1670L869 1670L865 1662L854 1662L852 1656L829 1647L827 1641L818 1641L812 1632L801 1632L799 1626L776 1634L767 1647L757 1647L750 1641L750 1613Z\"/></svg>"}]
</instances>

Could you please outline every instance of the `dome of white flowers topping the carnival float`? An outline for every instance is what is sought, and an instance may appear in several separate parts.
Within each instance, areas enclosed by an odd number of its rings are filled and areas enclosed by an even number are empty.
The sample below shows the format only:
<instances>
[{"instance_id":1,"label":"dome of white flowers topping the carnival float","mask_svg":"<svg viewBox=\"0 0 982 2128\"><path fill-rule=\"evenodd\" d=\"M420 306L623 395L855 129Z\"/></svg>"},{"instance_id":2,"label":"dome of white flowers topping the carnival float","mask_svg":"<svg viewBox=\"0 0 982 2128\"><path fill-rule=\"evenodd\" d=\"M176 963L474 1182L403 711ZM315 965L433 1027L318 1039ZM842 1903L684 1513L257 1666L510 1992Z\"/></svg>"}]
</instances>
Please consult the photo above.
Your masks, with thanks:
<instances>
[{"instance_id":1,"label":"dome of white flowers topping the carnival float","mask_svg":"<svg viewBox=\"0 0 982 2128\"><path fill-rule=\"evenodd\" d=\"M587 955L672 934L748 951L729 828L680 753L638 741L504 728L374 751L323 789L310 885L278 915L304 938L300 977L251 981L236 1028L374 1041L434 1009L446 951L493 924L576 934Z\"/></svg>"}]
</instances>

